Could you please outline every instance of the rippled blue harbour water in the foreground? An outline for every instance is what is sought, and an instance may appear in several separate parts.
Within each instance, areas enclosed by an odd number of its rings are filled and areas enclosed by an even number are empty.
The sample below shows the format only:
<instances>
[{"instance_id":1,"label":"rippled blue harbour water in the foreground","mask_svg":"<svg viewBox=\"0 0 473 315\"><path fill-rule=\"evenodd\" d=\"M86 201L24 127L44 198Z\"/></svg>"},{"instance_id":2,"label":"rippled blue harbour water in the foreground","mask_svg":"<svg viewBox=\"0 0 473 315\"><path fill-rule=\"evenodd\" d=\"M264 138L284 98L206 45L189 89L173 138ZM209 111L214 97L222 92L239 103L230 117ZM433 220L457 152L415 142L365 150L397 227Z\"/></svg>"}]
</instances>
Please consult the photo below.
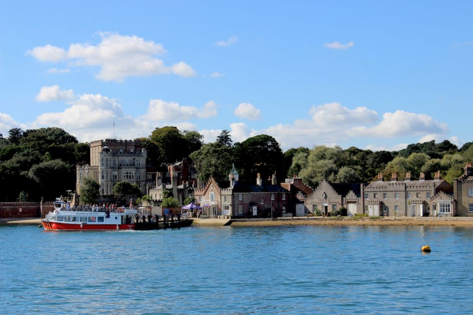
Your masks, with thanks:
<instances>
[{"instance_id":1,"label":"rippled blue harbour water in the foreground","mask_svg":"<svg viewBox=\"0 0 473 315\"><path fill-rule=\"evenodd\" d=\"M473 228L0 226L1 314L469 314ZM422 245L432 252L421 253Z\"/></svg>"}]
</instances>

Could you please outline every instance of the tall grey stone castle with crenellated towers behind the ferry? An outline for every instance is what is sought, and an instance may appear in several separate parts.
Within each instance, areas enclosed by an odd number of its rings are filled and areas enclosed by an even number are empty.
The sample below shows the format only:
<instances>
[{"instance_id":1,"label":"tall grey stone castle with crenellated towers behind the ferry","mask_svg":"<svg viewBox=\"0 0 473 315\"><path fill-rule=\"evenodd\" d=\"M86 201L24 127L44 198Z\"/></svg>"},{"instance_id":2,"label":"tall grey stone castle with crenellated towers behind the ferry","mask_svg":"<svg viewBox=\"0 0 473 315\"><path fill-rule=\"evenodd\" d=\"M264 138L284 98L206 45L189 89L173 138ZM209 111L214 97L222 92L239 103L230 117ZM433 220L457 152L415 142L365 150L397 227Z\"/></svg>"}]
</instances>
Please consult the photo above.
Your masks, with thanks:
<instances>
[{"instance_id":1,"label":"tall grey stone castle with crenellated towers behind the ferry","mask_svg":"<svg viewBox=\"0 0 473 315\"><path fill-rule=\"evenodd\" d=\"M146 193L146 149L139 140L97 140L90 143L90 164L77 165L76 190L80 195L83 179L90 177L100 184L100 194L113 194L116 183L137 184Z\"/></svg>"}]
</instances>

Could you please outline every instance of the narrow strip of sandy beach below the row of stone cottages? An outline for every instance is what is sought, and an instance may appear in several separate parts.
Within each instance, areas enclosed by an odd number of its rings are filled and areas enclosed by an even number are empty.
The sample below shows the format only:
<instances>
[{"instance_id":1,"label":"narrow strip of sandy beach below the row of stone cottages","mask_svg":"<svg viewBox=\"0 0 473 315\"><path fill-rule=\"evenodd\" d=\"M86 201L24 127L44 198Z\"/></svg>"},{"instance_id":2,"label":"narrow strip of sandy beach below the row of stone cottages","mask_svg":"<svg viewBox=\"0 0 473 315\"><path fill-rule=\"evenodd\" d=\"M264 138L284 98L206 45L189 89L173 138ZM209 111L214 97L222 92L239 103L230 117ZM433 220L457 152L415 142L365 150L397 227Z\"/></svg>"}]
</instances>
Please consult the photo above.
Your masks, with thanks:
<instances>
[{"instance_id":1,"label":"narrow strip of sandy beach below the row of stone cottages","mask_svg":"<svg viewBox=\"0 0 473 315\"><path fill-rule=\"evenodd\" d=\"M278 225L431 225L473 226L473 218L298 218L277 220L234 220L232 226L278 226Z\"/></svg>"}]
</instances>

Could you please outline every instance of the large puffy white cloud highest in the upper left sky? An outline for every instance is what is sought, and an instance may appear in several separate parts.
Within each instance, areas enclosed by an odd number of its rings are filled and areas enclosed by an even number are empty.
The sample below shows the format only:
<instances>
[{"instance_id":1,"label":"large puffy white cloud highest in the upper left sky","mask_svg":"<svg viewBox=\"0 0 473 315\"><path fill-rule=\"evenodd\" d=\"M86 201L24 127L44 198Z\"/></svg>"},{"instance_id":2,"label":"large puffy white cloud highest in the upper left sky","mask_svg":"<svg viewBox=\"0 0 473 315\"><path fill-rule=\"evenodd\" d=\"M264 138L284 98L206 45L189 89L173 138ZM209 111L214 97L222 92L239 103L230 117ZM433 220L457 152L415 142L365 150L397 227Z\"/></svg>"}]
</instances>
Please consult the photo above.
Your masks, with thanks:
<instances>
[{"instance_id":1,"label":"large puffy white cloud highest in the upper left sky","mask_svg":"<svg viewBox=\"0 0 473 315\"><path fill-rule=\"evenodd\" d=\"M103 81L122 82L130 76L148 76L174 73L183 77L196 75L195 70L184 62L171 66L156 58L166 50L161 44L144 40L138 36L101 33L97 45L70 44L66 52L63 48L46 45L28 51L42 62L72 61L72 66L98 66L96 77Z\"/></svg>"}]
</instances>

